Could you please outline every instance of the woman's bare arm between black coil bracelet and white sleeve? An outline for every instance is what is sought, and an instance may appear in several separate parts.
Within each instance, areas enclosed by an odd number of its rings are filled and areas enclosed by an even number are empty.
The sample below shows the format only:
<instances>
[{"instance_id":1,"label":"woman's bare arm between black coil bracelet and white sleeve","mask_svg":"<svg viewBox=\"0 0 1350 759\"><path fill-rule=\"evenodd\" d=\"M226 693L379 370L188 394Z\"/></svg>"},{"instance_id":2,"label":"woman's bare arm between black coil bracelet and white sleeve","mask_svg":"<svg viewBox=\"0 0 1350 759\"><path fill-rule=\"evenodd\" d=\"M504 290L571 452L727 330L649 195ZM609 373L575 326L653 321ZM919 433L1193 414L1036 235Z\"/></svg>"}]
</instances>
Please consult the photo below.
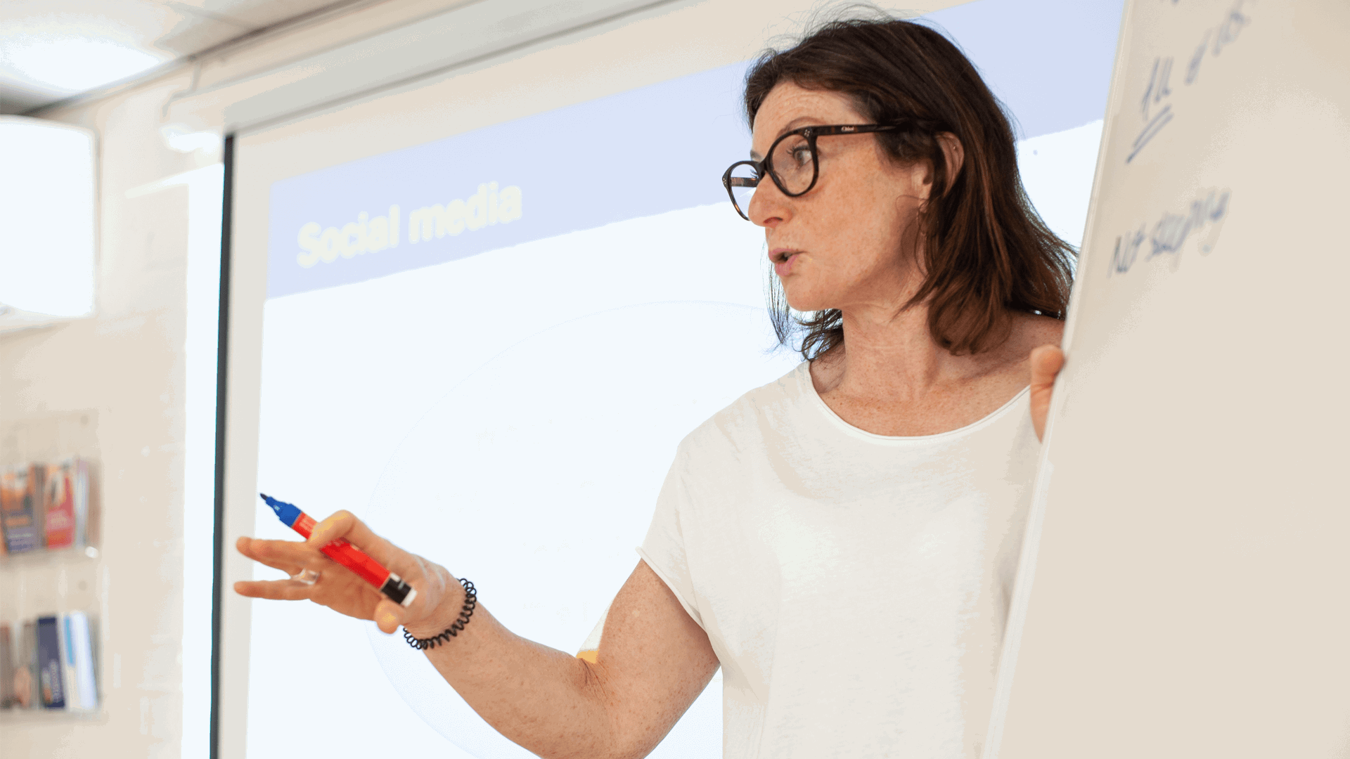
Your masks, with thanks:
<instances>
[{"instance_id":1,"label":"woman's bare arm between black coil bracelet and white sleeve","mask_svg":"<svg viewBox=\"0 0 1350 759\"><path fill-rule=\"evenodd\" d=\"M436 610L409 628L417 637L459 616L464 593L443 577ZM427 651L475 712L545 759L648 755L718 667L707 635L644 562L614 597L597 654L589 663L525 640L483 606L458 636Z\"/></svg>"}]
</instances>

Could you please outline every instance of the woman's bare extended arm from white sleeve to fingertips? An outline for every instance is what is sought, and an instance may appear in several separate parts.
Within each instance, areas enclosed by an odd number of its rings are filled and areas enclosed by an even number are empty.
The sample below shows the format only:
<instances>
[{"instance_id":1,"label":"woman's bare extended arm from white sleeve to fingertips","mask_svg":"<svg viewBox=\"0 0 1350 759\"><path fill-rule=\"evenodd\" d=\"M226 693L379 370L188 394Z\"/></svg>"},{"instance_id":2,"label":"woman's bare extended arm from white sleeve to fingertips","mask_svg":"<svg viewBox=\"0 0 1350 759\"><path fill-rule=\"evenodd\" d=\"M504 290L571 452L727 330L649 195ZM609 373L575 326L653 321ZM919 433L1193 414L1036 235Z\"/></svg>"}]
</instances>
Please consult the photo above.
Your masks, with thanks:
<instances>
[{"instance_id":1,"label":"woman's bare extended arm from white sleeve to fingertips","mask_svg":"<svg viewBox=\"0 0 1350 759\"><path fill-rule=\"evenodd\" d=\"M404 609L319 552L346 538L417 589ZM298 574L298 581L238 582L256 598L310 600L348 616L373 619L385 632L400 624L417 637L448 628L463 589L443 567L373 533L350 512L321 521L305 543L239 539L239 551ZM409 655L417 655L409 650ZM645 756L670 732L717 671L702 628L644 562L610 606L595 663L525 640L479 602L473 620L447 644L425 652L441 677L502 735L545 759Z\"/></svg>"}]
</instances>

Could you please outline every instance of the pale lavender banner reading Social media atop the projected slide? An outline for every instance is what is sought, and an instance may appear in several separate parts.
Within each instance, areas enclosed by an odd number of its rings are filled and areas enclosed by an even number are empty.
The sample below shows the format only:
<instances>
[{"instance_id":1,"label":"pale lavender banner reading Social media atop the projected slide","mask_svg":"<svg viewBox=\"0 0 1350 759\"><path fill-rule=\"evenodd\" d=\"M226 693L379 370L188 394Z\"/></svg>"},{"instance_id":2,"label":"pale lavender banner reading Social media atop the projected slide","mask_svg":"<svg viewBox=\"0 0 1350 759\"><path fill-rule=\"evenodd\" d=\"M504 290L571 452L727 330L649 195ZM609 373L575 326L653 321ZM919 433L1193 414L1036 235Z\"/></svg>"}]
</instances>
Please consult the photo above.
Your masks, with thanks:
<instances>
[{"instance_id":1,"label":"pale lavender banner reading Social media atop the projected slide","mask_svg":"<svg viewBox=\"0 0 1350 759\"><path fill-rule=\"evenodd\" d=\"M1120 12L1122 0L977 0L926 20L959 42L1025 139L1103 116ZM724 203L721 174L749 151L747 66L279 180L267 297Z\"/></svg>"}]
</instances>

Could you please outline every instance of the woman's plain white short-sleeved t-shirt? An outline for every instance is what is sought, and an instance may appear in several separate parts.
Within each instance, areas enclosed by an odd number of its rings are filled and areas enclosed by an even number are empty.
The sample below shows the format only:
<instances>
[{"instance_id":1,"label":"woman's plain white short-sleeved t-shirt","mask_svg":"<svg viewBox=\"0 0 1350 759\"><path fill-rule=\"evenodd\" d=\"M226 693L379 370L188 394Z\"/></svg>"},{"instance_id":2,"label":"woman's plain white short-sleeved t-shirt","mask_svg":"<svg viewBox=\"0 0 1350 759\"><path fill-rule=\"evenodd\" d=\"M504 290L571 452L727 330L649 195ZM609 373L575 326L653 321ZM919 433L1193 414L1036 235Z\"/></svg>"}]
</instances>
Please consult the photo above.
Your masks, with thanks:
<instances>
[{"instance_id":1,"label":"woman's plain white short-sleeved t-shirt","mask_svg":"<svg viewBox=\"0 0 1350 759\"><path fill-rule=\"evenodd\" d=\"M1026 390L888 438L805 362L691 432L639 554L721 660L725 759L977 758L1038 448Z\"/></svg>"}]
</instances>

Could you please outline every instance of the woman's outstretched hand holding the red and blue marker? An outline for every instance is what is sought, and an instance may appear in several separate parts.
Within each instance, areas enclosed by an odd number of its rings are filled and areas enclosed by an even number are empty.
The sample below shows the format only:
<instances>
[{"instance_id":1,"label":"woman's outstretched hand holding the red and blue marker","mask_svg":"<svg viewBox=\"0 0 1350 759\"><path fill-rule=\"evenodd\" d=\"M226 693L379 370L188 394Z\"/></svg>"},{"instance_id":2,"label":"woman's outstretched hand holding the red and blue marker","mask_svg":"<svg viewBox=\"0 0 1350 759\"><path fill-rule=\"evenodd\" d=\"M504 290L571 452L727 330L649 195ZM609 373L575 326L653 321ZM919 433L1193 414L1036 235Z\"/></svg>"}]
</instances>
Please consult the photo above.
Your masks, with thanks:
<instances>
[{"instance_id":1,"label":"woman's outstretched hand holding the red and blue marker","mask_svg":"<svg viewBox=\"0 0 1350 759\"><path fill-rule=\"evenodd\" d=\"M408 606L390 601L366 581L347 567L325 556L320 548L346 539L379 562L385 569L398 574L417 590L417 597ZM435 628L440 624L439 609L448 601L458 614L454 596L459 583L443 567L409 554L389 540L375 535L347 511L338 512L315 525L308 540L262 540L240 538L235 544L239 552L289 574L292 578L302 570L319 573L313 583L300 579L254 579L235 583L235 593L252 598L273 598L282 601L313 601L323 604L350 617L374 620L383 632L394 632L398 625L405 628ZM454 620L454 617L451 617ZM448 627L446 623L444 627ZM439 629L437 629L439 632ZM416 632L414 632L416 635Z\"/></svg>"}]
</instances>

